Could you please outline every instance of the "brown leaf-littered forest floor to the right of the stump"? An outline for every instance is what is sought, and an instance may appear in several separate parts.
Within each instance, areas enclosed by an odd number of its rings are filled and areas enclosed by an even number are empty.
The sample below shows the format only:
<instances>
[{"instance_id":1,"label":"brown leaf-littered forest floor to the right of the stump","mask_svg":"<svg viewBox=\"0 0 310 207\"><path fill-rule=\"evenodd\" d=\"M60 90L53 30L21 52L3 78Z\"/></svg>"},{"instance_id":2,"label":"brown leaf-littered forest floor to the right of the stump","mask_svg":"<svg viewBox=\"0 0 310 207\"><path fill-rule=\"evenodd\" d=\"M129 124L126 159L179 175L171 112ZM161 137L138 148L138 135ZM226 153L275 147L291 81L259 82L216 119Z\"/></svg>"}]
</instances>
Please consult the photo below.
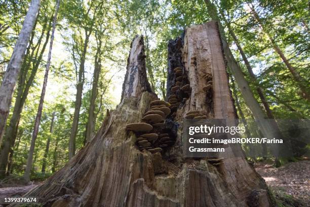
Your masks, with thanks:
<instances>
[{"instance_id":1,"label":"brown leaf-littered forest floor to the right of the stump","mask_svg":"<svg viewBox=\"0 0 310 207\"><path fill-rule=\"evenodd\" d=\"M270 162L263 161L255 163L254 167L273 191L276 199L288 199L292 203L301 201L304 206L309 206L310 160L290 162L279 168L274 167Z\"/></svg>"}]
</instances>

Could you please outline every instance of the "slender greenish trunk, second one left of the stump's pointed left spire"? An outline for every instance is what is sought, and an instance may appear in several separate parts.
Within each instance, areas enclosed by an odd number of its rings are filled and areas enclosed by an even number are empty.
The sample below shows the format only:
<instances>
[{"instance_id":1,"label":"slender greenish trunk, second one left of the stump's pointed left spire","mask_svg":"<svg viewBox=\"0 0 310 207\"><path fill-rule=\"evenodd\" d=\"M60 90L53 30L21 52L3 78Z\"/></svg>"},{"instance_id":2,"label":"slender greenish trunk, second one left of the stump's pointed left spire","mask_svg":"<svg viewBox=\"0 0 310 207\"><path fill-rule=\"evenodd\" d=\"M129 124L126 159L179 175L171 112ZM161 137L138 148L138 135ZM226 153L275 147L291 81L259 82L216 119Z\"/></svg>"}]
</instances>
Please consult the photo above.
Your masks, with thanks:
<instances>
[{"instance_id":1,"label":"slender greenish trunk, second one left of the stump's pointed left spire","mask_svg":"<svg viewBox=\"0 0 310 207\"><path fill-rule=\"evenodd\" d=\"M80 109L82 105L82 93L83 93L83 86L84 86L84 66L85 66L85 58L86 58L90 34L91 34L91 30L85 31L85 41L84 41L83 52L81 56L78 84L76 85L74 115L73 115L73 122L72 122L72 128L71 128L70 140L69 140L69 160L75 154L75 137L76 137L76 133L78 133L78 124L79 124L79 118L80 118Z\"/></svg>"}]
</instances>

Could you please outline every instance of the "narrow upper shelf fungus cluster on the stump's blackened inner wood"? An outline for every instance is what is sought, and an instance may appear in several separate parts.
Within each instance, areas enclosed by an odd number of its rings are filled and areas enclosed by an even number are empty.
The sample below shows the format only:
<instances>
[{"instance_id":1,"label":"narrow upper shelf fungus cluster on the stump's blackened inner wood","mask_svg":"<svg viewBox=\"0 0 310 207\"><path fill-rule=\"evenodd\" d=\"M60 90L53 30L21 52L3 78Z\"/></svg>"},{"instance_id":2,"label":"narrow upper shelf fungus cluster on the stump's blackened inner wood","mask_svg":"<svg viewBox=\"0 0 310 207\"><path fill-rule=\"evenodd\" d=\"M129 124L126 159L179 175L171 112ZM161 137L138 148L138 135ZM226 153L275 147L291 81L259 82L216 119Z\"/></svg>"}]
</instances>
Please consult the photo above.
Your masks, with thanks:
<instances>
[{"instance_id":1,"label":"narrow upper shelf fungus cluster on the stump's blackened inner wood","mask_svg":"<svg viewBox=\"0 0 310 207\"><path fill-rule=\"evenodd\" d=\"M173 72L175 74L175 83L171 87L171 95L168 97L172 118L175 117L180 103L185 102L190 94L190 86L182 68L175 67Z\"/></svg>"}]
</instances>

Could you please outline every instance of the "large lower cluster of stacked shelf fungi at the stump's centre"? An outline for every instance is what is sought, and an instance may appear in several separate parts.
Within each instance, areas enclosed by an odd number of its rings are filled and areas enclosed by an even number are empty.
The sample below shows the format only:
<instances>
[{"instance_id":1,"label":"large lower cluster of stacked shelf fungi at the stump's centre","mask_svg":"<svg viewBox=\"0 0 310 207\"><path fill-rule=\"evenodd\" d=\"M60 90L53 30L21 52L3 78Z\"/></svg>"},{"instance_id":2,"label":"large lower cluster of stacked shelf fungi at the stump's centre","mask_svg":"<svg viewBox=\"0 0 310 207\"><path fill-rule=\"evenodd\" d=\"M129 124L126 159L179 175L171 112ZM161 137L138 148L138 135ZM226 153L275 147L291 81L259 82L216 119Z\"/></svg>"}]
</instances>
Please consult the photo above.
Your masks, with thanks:
<instances>
[{"instance_id":1,"label":"large lower cluster of stacked shelf fungi at the stump's centre","mask_svg":"<svg viewBox=\"0 0 310 207\"><path fill-rule=\"evenodd\" d=\"M170 103L164 100L154 100L150 102L149 110L144 114L141 123L126 125L127 130L136 134L139 150L157 153L174 145L175 137L170 135L169 128L165 128L166 117L171 113L169 107Z\"/></svg>"}]
</instances>

